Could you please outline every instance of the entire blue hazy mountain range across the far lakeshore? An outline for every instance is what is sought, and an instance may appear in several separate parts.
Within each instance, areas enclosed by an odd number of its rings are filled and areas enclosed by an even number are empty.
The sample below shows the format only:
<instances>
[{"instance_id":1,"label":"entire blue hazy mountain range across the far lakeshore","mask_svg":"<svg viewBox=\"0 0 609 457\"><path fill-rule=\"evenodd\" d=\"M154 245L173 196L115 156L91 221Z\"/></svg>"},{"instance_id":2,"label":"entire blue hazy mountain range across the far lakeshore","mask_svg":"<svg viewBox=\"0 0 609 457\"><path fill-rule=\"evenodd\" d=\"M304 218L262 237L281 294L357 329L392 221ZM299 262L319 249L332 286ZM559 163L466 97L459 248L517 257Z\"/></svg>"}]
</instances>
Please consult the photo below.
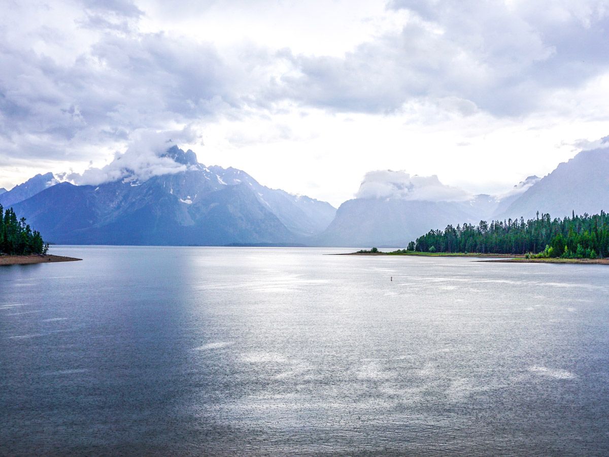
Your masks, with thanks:
<instances>
[{"instance_id":1,"label":"entire blue hazy mountain range across the far lakeshore","mask_svg":"<svg viewBox=\"0 0 609 457\"><path fill-rule=\"evenodd\" d=\"M270 189L239 169L207 167L177 146L163 157L184 165L183 171L146 180L127 171L95 186L36 175L0 190L0 204L58 244L336 247L404 247L448 224L609 208L609 149L580 152L545 177L529 176L499 196L472 196L435 176L373 172L338 210Z\"/></svg>"}]
</instances>

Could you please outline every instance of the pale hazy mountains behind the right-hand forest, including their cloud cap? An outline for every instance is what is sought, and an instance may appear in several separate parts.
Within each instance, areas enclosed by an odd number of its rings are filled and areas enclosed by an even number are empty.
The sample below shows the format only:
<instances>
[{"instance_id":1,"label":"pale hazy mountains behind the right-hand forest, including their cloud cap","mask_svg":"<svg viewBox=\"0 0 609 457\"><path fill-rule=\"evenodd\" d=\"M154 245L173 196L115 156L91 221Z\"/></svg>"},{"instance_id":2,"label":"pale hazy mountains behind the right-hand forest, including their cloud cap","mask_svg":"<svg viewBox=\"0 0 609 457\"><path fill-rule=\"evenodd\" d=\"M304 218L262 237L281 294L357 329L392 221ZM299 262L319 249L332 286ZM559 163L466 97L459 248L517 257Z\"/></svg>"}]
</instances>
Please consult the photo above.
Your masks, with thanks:
<instances>
[{"instance_id":1,"label":"pale hazy mountains behind the right-hand forest, including their cloud cap","mask_svg":"<svg viewBox=\"0 0 609 457\"><path fill-rule=\"evenodd\" d=\"M429 230L492 219L599 213L609 208L609 149L580 152L543 179L532 175L500 195L472 195L437 176L403 171L365 175L356 198L314 238L322 246L404 247Z\"/></svg>"}]
</instances>

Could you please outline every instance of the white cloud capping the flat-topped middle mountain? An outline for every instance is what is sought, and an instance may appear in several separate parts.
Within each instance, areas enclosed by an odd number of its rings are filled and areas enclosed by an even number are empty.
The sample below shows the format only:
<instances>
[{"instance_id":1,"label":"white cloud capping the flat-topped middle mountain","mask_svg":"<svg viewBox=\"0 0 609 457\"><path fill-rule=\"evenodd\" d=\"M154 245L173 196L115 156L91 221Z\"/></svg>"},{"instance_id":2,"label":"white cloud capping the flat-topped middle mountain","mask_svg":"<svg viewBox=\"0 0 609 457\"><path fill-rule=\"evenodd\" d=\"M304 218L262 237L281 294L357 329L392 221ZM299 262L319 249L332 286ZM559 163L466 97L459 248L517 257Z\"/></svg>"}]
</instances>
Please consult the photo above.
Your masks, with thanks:
<instances>
[{"instance_id":1,"label":"white cloud capping the flat-topped middle mountain","mask_svg":"<svg viewBox=\"0 0 609 457\"><path fill-rule=\"evenodd\" d=\"M356 198L404 199L430 202L456 202L473 196L456 187L443 185L436 175L410 176L405 171L370 171L364 176Z\"/></svg>"}]
</instances>

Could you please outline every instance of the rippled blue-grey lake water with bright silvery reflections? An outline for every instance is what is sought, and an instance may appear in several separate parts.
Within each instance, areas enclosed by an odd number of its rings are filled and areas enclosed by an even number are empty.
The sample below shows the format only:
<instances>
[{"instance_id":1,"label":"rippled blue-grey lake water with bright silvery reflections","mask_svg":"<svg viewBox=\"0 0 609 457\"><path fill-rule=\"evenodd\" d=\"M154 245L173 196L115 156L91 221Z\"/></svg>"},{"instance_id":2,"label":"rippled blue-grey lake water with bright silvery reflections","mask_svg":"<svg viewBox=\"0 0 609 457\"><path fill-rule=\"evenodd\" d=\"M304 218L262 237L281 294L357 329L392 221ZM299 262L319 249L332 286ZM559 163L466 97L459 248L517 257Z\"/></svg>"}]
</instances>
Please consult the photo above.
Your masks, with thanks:
<instances>
[{"instance_id":1,"label":"rippled blue-grey lake water with bright silvery reflections","mask_svg":"<svg viewBox=\"0 0 609 457\"><path fill-rule=\"evenodd\" d=\"M0 267L0 454L609 453L609 267L331 252Z\"/></svg>"}]
</instances>

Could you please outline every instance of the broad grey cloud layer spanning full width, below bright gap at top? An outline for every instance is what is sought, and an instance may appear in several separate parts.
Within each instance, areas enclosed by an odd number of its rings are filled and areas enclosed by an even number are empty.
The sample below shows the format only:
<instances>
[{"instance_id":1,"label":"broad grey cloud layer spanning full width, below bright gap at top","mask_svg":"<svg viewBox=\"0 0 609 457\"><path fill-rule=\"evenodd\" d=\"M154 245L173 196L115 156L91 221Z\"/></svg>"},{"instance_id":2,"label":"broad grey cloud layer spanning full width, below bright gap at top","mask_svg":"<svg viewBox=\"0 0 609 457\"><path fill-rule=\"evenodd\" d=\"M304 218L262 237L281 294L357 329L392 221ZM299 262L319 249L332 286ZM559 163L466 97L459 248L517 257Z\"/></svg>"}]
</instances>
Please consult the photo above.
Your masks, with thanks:
<instances>
[{"instance_id":1,"label":"broad grey cloud layer spanning full width, below bright gap at top","mask_svg":"<svg viewBox=\"0 0 609 457\"><path fill-rule=\"evenodd\" d=\"M389 12L407 12L403 26L342 57L256 44L220 53L188 35L141 32L146 4L127 0L50 12L12 4L0 29L0 135L5 151L36 157L41 144L53 154L286 101L384 113L431 99L463 115L522 115L609 68L607 1L534 3L395 0ZM19 32L24 19L41 25ZM82 44L62 53L71 40Z\"/></svg>"}]
</instances>

